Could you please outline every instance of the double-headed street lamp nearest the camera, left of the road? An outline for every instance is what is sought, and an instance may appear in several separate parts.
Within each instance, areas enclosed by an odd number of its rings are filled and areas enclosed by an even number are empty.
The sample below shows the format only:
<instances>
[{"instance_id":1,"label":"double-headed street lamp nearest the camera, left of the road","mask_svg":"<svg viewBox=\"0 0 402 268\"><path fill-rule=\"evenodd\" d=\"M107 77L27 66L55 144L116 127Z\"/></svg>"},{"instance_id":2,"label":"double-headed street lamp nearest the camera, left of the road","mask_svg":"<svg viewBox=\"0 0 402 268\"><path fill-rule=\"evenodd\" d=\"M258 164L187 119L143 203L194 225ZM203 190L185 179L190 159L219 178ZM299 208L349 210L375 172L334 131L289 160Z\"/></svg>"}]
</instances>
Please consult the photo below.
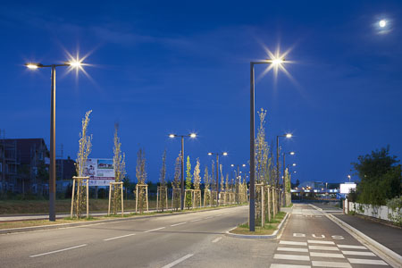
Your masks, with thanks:
<instances>
[{"instance_id":1,"label":"double-headed street lamp nearest the camera, left of the road","mask_svg":"<svg viewBox=\"0 0 402 268\"><path fill-rule=\"evenodd\" d=\"M50 100L50 163L49 163L49 221L55 222L55 69L61 66L70 66L71 68L81 69L83 63L80 61L71 61L63 64L44 65L42 63L25 63L29 70L50 67L51 71L51 100Z\"/></svg>"}]
</instances>

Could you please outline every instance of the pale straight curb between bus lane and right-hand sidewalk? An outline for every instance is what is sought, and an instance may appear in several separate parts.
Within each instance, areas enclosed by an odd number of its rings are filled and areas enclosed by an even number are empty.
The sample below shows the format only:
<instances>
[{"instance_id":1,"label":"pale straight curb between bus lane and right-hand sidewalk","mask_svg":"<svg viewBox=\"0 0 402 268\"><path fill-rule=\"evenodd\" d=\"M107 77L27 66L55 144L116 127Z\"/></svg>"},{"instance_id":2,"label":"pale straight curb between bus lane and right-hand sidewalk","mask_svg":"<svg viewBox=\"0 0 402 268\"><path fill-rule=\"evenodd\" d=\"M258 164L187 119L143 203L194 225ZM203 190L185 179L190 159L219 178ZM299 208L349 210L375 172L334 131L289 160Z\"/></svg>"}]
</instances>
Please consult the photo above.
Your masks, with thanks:
<instances>
[{"instance_id":1,"label":"pale straight curb between bus lane and right-hand sidewalk","mask_svg":"<svg viewBox=\"0 0 402 268\"><path fill-rule=\"evenodd\" d=\"M322 214L324 214L328 219L338 224L339 227L342 228L343 230L348 231L348 233L352 235L355 239L359 240L360 242L363 242L364 246L369 247L377 255L381 255L381 257L385 261L387 261L387 263L389 263L392 267L396 268L401 267L402 264L401 255L398 255L397 253L390 250L388 247L381 245L379 242L368 237L360 230L357 230L356 228L350 226L348 223L343 222L342 220L338 219L337 217L331 214L325 213L322 209L316 207L315 205L311 206L313 206L317 210L320 210Z\"/></svg>"}]
</instances>

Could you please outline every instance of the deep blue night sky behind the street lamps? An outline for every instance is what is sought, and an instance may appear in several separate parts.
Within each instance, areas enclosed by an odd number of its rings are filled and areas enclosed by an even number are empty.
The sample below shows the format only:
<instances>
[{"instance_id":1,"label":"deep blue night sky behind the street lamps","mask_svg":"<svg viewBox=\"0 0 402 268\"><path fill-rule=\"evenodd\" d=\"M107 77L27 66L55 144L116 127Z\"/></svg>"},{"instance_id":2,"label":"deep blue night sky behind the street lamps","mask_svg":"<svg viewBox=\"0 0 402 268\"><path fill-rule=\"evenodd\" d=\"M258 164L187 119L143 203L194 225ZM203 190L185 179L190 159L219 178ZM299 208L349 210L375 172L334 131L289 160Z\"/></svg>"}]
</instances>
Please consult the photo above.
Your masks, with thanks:
<instances>
[{"instance_id":1,"label":"deep blue night sky behind the street lamps","mask_svg":"<svg viewBox=\"0 0 402 268\"><path fill-rule=\"evenodd\" d=\"M180 139L194 168L208 151L230 163L249 158L249 62L265 48L289 51L275 79L255 70L255 110L268 110L268 141L281 139L292 180L348 180L358 155L390 146L402 155L401 1L18 1L0 4L0 129L6 138L49 144L50 70L88 55L77 76L57 69L56 155L76 157L81 118L93 110L90 157L113 157L120 124L131 180L144 147L148 179L167 149L173 177ZM380 29L379 21L387 21ZM258 121L256 121L258 122ZM274 148L273 148L274 149ZM353 174L353 172L352 172ZM352 180L356 176L352 176Z\"/></svg>"}]
</instances>

